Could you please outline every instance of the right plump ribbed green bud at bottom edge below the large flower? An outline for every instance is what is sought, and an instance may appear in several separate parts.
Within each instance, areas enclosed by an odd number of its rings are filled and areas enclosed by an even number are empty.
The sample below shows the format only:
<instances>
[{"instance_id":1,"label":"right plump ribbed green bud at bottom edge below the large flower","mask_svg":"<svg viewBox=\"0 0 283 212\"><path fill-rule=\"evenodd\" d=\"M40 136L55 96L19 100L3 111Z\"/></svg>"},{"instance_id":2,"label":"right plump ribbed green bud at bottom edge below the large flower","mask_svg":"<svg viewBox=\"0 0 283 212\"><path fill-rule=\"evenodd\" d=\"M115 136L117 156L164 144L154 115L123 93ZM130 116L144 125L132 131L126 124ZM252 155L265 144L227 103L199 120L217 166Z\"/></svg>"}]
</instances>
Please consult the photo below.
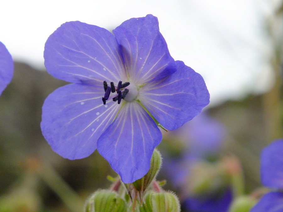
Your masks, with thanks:
<instances>
[{"instance_id":1,"label":"right plump ribbed green bud at bottom edge below the large flower","mask_svg":"<svg viewBox=\"0 0 283 212\"><path fill-rule=\"evenodd\" d=\"M180 202L175 194L169 192L149 192L140 212L180 212Z\"/></svg>"}]
</instances>

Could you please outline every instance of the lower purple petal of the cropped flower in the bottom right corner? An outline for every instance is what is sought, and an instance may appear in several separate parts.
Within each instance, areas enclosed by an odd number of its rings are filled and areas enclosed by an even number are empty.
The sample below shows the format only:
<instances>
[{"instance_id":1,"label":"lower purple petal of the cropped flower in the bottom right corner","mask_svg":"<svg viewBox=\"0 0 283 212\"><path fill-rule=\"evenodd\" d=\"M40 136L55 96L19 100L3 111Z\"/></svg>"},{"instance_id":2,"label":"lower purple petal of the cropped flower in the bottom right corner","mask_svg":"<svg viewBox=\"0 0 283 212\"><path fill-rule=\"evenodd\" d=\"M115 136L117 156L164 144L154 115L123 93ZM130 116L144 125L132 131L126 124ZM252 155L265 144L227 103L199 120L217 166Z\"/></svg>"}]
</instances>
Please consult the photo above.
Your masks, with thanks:
<instances>
[{"instance_id":1,"label":"lower purple petal of the cropped flower in the bottom right corner","mask_svg":"<svg viewBox=\"0 0 283 212\"><path fill-rule=\"evenodd\" d=\"M265 194L250 212L282 212L283 193L269 192Z\"/></svg>"}]
</instances>

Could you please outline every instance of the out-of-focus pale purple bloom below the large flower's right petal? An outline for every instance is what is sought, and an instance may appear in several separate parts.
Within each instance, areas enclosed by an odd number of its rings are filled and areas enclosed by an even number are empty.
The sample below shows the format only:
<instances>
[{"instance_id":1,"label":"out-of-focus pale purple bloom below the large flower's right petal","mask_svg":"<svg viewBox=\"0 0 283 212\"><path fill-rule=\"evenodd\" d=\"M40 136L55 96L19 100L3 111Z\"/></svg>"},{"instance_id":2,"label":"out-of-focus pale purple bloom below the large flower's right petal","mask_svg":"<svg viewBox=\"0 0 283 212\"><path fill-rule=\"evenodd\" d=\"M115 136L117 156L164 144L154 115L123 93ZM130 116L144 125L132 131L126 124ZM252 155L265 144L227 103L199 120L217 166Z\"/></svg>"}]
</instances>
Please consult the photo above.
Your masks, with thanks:
<instances>
[{"instance_id":1,"label":"out-of-focus pale purple bloom below the large flower's right petal","mask_svg":"<svg viewBox=\"0 0 283 212\"><path fill-rule=\"evenodd\" d=\"M166 148L165 151L161 150L164 157L163 170L166 170L174 184L176 182L180 185L186 181L191 165L219 153L226 131L220 122L202 112L177 130L165 134L164 137L167 143L174 143L179 155L177 157L170 155L172 147Z\"/></svg>"}]
</instances>

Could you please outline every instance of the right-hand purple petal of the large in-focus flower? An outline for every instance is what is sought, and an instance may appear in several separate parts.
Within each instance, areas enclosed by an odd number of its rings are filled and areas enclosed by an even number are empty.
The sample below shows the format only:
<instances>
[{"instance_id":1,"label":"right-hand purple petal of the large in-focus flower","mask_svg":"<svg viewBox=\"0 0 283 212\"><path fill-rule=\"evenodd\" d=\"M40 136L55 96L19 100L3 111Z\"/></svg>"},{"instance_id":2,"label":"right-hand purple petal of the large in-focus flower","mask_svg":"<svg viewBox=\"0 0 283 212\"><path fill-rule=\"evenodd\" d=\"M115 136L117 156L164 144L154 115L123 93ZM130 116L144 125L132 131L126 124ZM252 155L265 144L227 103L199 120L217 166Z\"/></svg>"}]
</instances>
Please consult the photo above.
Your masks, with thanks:
<instances>
[{"instance_id":1,"label":"right-hand purple petal of the large in-focus flower","mask_svg":"<svg viewBox=\"0 0 283 212\"><path fill-rule=\"evenodd\" d=\"M142 104L164 127L174 130L200 114L209 103L203 78L182 61L177 71L160 82L144 85L139 90Z\"/></svg>"}]
</instances>

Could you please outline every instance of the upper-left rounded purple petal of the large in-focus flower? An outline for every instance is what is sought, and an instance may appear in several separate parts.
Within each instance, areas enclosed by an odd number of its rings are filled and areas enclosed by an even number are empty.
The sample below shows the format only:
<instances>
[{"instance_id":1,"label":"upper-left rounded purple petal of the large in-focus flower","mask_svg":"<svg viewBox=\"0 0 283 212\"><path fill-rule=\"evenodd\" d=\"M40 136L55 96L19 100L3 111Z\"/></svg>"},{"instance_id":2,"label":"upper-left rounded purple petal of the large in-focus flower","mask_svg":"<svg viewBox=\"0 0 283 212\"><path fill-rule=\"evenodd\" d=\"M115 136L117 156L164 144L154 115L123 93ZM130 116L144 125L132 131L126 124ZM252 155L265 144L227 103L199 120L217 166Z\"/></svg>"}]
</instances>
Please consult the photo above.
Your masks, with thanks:
<instances>
[{"instance_id":1,"label":"upper-left rounded purple petal of the large in-focus flower","mask_svg":"<svg viewBox=\"0 0 283 212\"><path fill-rule=\"evenodd\" d=\"M103 85L126 79L119 44L101 27L71 21L62 24L47 39L45 67L58 79L73 83Z\"/></svg>"}]
</instances>

